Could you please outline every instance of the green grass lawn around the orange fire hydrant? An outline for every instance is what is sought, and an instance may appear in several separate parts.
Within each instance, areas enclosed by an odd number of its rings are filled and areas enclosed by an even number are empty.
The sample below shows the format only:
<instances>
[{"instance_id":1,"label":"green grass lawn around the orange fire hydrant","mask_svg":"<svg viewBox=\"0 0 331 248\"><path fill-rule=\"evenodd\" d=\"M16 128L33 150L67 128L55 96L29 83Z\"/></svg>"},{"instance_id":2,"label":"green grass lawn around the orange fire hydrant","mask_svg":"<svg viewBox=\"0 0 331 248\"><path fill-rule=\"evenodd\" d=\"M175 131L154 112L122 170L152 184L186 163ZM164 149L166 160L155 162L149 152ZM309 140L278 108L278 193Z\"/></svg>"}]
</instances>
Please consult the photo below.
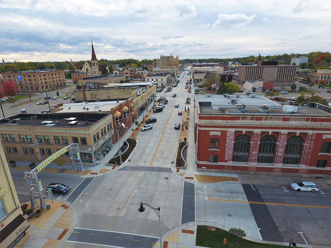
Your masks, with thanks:
<instances>
[{"instance_id":1,"label":"green grass lawn around the orange fire hydrant","mask_svg":"<svg viewBox=\"0 0 331 248\"><path fill-rule=\"evenodd\" d=\"M212 248L237 248L237 238L231 233L216 227L198 226L195 245ZM214 229L214 230L212 230ZM226 245L223 239L226 238ZM257 243L250 240L239 238L239 245L243 248L286 248L284 245Z\"/></svg>"}]
</instances>

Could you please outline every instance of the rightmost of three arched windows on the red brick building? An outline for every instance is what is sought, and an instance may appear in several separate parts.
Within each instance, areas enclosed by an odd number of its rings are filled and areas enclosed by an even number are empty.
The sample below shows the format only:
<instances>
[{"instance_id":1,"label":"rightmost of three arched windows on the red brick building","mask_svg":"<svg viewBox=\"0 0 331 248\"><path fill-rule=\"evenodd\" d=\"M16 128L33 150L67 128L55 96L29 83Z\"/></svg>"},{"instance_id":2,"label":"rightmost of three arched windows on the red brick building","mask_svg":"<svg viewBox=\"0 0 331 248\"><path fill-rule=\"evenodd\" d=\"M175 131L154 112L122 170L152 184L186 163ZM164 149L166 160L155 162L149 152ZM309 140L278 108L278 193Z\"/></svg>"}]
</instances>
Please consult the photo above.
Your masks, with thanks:
<instances>
[{"instance_id":1,"label":"rightmost of three arched windows on the red brick building","mask_svg":"<svg viewBox=\"0 0 331 248\"><path fill-rule=\"evenodd\" d=\"M299 136L294 136L288 139L283 164L299 164L303 143L303 139Z\"/></svg>"}]
</instances>

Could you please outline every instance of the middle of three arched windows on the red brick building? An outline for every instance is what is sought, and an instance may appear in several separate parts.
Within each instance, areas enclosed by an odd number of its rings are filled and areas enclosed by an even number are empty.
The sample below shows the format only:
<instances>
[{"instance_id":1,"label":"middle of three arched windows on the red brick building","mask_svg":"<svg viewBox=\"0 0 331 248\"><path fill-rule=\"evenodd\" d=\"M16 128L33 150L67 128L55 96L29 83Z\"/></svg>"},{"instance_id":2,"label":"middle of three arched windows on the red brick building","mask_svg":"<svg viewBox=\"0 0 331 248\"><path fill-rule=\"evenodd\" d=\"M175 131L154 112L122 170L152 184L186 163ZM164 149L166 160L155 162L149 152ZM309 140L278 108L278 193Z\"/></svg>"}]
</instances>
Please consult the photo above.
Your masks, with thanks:
<instances>
[{"instance_id":1,"label":"middle of three arched windows on the red brick building","mask_svg":"<svg viewBox=\"0 0 331 248\"><path fill-rule=\"evenodd\" d=\"M258 163L272 163L275 155L276 138L272 135L264 136L260 141Z\"/></svg>"}]
</instances>

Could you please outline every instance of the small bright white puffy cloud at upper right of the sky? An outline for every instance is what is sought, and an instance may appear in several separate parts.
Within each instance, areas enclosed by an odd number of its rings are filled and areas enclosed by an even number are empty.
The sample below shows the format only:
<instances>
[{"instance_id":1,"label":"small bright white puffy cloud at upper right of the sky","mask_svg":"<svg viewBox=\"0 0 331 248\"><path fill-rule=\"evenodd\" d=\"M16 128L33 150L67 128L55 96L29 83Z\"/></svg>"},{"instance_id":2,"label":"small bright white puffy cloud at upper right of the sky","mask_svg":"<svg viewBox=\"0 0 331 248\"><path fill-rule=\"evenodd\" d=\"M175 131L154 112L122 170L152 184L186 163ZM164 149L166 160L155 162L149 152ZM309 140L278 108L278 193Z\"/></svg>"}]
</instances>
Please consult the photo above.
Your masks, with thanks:
<instances>
[{"instance_id":1,"label":"small bright white puffy cloud at upper right of the sky","mask_svg":"<svg viewBox=\"0 0 331 248\"><path fill-rule=\"evenodd\" d=\"M213 29L246 26L253 21L255 14L249 17L246 14L218 14L217 16L217 21L211 26Z\"/></svg>"}]
</instances>

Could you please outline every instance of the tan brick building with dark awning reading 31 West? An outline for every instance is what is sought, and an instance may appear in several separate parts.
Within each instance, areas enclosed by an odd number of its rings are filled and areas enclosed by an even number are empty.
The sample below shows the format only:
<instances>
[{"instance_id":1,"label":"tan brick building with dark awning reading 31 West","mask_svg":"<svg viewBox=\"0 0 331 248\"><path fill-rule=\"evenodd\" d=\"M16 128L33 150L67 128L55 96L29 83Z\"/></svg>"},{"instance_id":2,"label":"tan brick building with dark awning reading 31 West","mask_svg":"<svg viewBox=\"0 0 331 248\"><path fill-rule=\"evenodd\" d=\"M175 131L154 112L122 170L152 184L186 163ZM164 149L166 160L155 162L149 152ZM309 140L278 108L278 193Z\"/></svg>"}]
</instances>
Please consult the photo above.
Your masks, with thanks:
<instances>
[{"instance_id":1,"label":"tan brick building with dark awning reading 31 West","mask_svg":"<svg viewBox=\"0 0 331 248\"><path fill-rule=\"evenodd\" d=\"M1 144L1 143L0 143ZM29 223L22 216L12 176L3 150L0 147L0 247L18 248L29 238Z\"/></svg>"}]
</instances>

